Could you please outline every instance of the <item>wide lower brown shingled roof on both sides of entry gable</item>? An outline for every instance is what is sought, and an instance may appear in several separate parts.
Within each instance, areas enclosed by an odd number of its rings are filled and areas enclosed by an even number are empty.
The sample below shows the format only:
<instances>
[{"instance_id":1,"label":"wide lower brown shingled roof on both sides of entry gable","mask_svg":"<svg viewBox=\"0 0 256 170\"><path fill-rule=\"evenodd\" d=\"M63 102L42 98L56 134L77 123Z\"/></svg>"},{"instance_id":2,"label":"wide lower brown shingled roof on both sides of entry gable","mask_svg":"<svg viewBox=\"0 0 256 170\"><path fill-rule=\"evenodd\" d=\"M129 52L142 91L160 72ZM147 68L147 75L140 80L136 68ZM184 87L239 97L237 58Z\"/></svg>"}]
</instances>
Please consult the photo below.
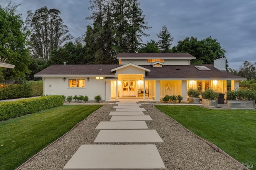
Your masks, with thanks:
<instances>
[{"instance_id":1,"label":"wide lower brown shingled roof on both sides of entry gable","mask_svg":"<svg viewBox=\"0 0 256 170\"><path fill-rule=\"evenodd\" d=\"M51 65L35 74L35 76L93 76L101 75L114 77L115 71L110 70L124 65ZM146 73L146 79L150 80L246 80L246 78L220 71L213 64L204 65L164 65L163 67L152 67L140 65L150 70ZM208 71L200 71L195 66L206 66ZM115 70L115 69L114 69Z\"/></svg>"}]
</instances>

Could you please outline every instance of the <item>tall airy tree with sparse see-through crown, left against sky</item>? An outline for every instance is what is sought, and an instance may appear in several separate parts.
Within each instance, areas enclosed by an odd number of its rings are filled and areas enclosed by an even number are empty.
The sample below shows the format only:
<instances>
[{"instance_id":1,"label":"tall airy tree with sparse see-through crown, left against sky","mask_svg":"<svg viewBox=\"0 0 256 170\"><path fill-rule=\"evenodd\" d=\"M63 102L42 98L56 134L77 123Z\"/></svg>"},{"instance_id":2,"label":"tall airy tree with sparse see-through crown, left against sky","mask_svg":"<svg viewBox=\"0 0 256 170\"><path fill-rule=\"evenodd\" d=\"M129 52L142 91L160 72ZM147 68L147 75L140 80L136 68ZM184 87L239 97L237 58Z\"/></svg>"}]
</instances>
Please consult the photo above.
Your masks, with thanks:
<instances>
[{"instance_id":1,"label":"tall airy tree with sparse see-through crown, left against sky","mask_svg":"<svg viewBox=\"0 0 256 170\"><path fill-rule=\"evenodd\" d=\"M48 10L44 6L35 13L28 11L27 14L26 29L31 32L30 41L33 43L31 49L35 58L47 61L54 48L73 38L67 34L68 27L63 24L59 10Z\"/></svg>"}]
</instances>

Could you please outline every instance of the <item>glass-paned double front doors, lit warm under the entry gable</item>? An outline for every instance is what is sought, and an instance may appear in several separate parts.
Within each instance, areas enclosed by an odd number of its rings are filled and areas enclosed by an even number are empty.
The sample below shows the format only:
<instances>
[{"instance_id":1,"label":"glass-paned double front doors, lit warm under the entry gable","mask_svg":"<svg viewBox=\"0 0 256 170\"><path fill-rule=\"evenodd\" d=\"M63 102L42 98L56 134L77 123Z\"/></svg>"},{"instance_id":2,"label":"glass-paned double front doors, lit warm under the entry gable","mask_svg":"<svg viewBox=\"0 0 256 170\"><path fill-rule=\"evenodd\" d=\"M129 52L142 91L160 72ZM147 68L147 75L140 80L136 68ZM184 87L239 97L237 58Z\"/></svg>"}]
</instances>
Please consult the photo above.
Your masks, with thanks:
<instances>
[{"instance_id":1,"label":"glass-paned double front doors, lit warm under the entry gable","mask_svg":"<svg viewBox=\"0 0 256 170\"><path fill-rule=\"evenodd\" d=\"M122 96L136 96L135 89L136 89L136 80L123 79Z\"/></svg>"}]
</instances>

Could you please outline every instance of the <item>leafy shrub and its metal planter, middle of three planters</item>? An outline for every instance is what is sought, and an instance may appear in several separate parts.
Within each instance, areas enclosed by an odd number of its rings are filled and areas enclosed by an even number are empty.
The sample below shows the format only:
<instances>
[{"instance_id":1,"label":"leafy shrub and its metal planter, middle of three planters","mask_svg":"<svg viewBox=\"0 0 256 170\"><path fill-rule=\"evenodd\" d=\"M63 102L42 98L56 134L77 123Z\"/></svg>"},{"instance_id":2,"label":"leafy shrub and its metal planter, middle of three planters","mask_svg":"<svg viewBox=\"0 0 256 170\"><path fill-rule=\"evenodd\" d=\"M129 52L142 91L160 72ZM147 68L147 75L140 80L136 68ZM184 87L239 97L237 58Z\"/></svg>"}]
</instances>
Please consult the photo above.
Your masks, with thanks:
<instances>
[{"instance_id":1,"label":"leafy shrub and its metal planter, middle of three planters","mask_svg":"<svg viewBox=\"0 0 256 170\"><path fill-rule=\"evenodd\" d=\"M202 106L217 107L219 93L215 90L208 88L202 92Z\"/></svg>"}]
</instances>

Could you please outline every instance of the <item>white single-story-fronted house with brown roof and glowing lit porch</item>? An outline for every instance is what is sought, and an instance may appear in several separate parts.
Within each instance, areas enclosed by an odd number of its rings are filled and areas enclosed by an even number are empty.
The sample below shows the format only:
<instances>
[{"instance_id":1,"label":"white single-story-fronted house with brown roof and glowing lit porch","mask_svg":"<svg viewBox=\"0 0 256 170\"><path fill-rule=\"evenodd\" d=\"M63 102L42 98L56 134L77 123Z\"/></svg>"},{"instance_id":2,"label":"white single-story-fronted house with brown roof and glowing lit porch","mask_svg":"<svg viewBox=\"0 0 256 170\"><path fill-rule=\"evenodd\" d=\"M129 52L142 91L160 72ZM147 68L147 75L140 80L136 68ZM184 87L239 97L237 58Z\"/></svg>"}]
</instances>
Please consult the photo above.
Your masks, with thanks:
<instances>
[{"instance_id":1,"label":"white single-story-fronted house with brown roof and glowing lit porch","mask_svg":"<svg viewBox=\"0 0 256 170\"><path fill-rule=\"evenodd\" d=\"M97 95L103 101L122 98L152 99L159 102L166 94L181 95L187 101L189 88L209 87L226 93L246 78L226 72L226 59L214 64L190 65L196 59L188 53L118 53L119 64L51 65L35 74L44 80L44 95Z\"/></svg>"}]
</instances>

